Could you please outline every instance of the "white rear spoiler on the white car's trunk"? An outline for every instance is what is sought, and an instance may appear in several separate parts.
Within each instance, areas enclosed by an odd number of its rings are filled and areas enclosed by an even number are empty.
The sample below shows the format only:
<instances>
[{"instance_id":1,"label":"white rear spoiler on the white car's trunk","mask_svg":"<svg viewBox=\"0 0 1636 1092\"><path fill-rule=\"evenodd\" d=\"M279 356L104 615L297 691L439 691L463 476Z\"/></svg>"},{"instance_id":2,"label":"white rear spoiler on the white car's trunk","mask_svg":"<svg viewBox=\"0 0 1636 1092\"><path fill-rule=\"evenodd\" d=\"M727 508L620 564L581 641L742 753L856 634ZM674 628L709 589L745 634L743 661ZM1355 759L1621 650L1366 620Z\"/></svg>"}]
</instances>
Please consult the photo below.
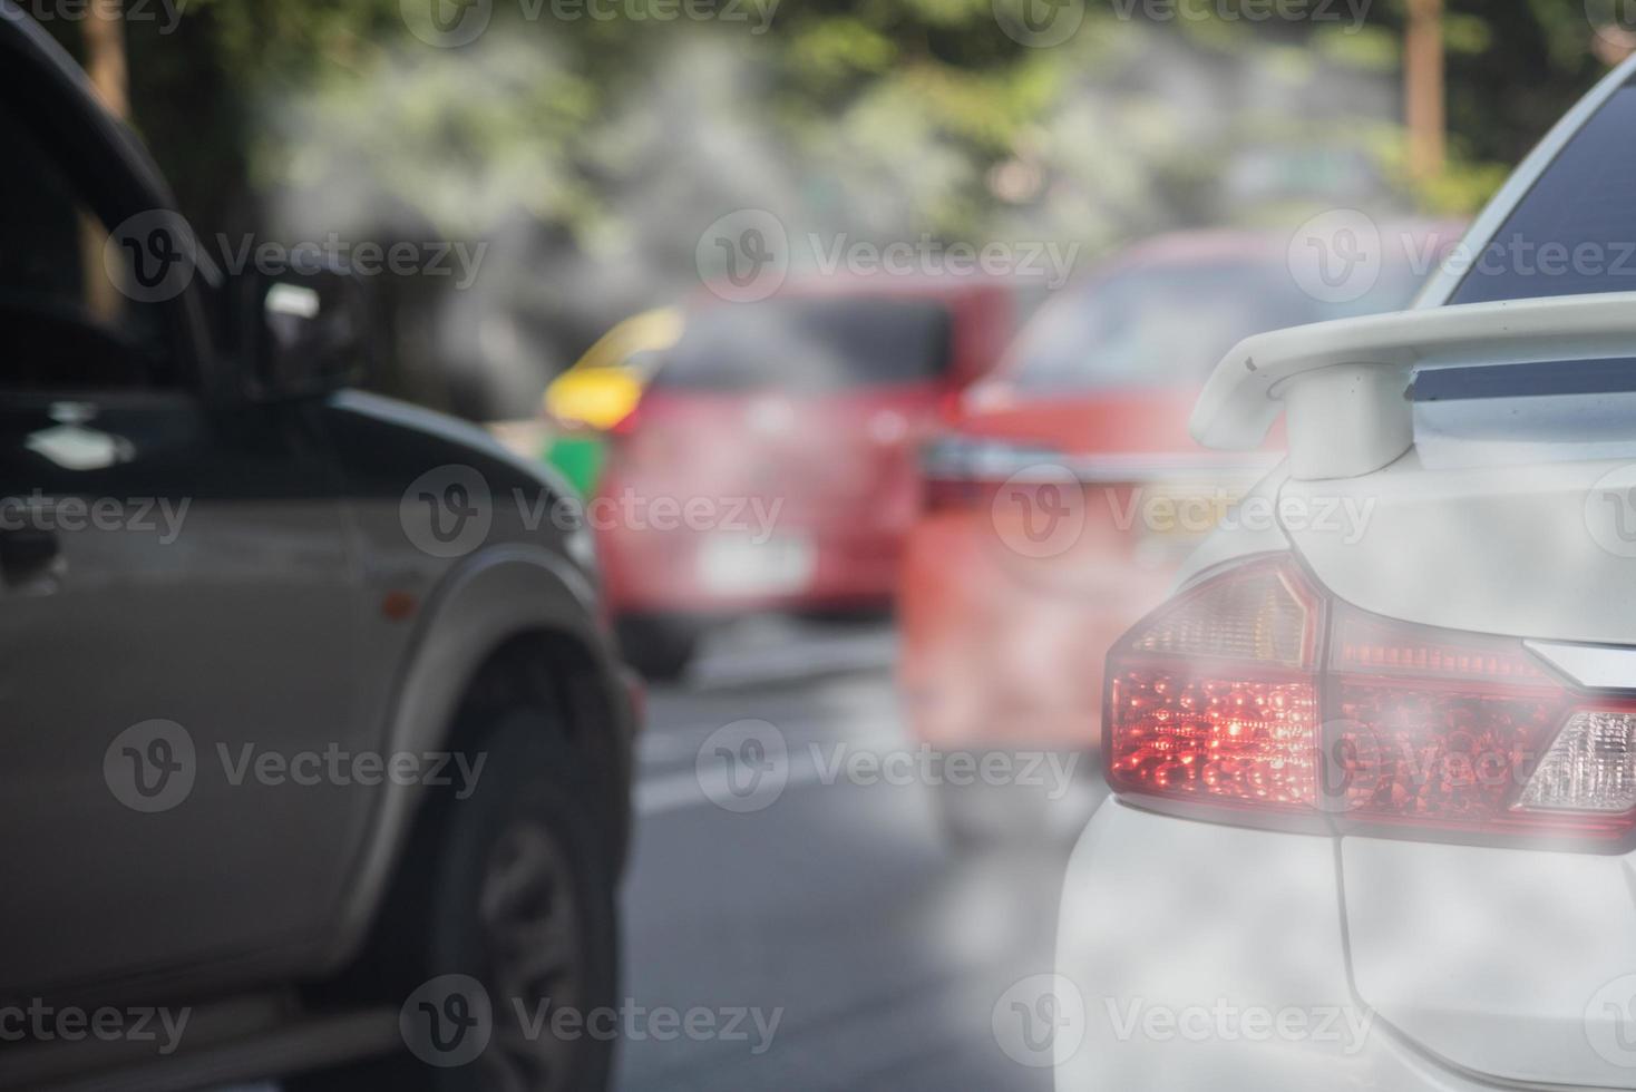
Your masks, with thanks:
<instances>
[{"instance_id":1,"label":"white rear spoiler on the white car's trunk","mask_svg":"<svg viewBox=\"0 0 1636 1092\"><path fill-rule=\"evenodd\" d=\"M1207 448L1256 448L1288 414L1289 472L1356 477L1414 445L1417 368L1636 356L1636 293L1427 307L1260 333L1234 348L1193 409Z\"/></svg>"}]
</instances>

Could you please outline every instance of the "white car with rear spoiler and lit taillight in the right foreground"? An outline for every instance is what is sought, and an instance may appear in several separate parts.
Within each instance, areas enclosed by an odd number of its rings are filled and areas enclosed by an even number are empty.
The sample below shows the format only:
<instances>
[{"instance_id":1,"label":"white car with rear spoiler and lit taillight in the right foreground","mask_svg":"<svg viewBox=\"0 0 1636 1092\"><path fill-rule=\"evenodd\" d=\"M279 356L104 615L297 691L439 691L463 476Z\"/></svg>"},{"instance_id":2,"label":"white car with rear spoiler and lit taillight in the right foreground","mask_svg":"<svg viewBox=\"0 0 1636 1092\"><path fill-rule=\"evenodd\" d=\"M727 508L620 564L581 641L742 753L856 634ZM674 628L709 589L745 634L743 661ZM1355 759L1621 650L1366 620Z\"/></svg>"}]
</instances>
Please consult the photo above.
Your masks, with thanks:
<instances>
[{"instance_id":1,"label":"white car with rear spoiler and lit taillight in the right foreground","mask_svg":"<svg viewBox=\"0 0 1636 1092\"><path fill-rule=\"evenodd\" d=\"M1636 1089L1636 60L1414 311L1255 337L1289 458L1109 651L1062 1090Z\"/></svg>"}]
</instances>

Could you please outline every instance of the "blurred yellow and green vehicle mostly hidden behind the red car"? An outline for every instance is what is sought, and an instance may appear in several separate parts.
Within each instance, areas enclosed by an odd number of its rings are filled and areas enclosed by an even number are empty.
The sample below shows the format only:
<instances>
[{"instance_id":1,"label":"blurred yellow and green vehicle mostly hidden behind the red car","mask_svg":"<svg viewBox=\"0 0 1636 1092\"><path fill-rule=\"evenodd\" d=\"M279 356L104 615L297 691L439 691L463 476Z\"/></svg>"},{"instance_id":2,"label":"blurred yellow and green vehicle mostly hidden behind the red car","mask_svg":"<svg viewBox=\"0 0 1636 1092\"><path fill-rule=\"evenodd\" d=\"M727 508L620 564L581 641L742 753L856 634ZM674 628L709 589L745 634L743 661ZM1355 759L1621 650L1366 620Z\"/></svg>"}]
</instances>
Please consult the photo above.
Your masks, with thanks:
<instances>
[{"instance_id":1,"label":"blurred yellow and green vehicle mostly hidden behind the red car","mask_svg":"<svg viewBox=\"0 0 1636 1092\"><path fill-rule=\"evenodd\" d=\"M574 366L545 389L545 414L555 425L543 458L582 494L596 489L609 428L625 420L659 368L664 350L682 335L681 307L656 307L625 319L597 338Z\"/></svg>"}]
</instances>

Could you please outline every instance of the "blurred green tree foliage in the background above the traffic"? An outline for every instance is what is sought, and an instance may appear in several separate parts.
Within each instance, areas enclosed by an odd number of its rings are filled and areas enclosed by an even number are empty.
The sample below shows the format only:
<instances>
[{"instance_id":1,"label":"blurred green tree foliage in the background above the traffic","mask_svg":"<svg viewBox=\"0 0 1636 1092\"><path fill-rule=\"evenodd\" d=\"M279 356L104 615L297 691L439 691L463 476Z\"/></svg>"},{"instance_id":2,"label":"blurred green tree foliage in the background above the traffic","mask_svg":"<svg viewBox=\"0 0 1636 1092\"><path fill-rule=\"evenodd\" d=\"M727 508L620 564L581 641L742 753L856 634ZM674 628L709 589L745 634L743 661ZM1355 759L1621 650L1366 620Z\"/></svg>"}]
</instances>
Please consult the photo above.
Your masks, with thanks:
<instances>
[{"instance_id":1,"label":"blurred green tree foliage in the background above the traffic","mask_svg":"<svg viewBox=\"0 0 1636 1092\"><path fill-rule=\"evenodd\" d=\"M172 33L133 23L136 124L204 230L494 237L492 262L538 281L512 291L556 365L697 284L700 230L735 208L797 235L1086 255L1304 206L1469 213L1607 70L1577 0L1448 0L1451 163L1415 186L1405 0L1361 3L1361 23L1062 0L1083 18L1050 47L1001 29L1022 0L414 2L492 20L447 49L401 0L188 0ZM674 18L700 10L718 18Z\"/></svg>"}]
</instances>

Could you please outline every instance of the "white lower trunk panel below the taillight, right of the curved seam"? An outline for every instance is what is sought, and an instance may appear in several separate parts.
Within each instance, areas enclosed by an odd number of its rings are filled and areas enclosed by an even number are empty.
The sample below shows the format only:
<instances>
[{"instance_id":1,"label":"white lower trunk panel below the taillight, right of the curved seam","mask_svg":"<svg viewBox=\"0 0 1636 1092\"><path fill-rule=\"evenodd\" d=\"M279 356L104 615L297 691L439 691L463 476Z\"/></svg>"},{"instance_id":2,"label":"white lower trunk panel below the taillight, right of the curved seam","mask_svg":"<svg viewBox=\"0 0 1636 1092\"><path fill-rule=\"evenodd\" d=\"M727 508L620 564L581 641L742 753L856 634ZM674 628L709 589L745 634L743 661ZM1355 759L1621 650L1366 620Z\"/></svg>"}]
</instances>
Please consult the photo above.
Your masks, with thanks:
<instances>
[{"instance_id":1,"label":"white lower trunk panel below the taillight, right of the curved seam","mask_svg":"<svg viewBox=\"0 0 1636 1092\"><path fill-rule=\"evenodd\" d=\"M1633 860L1342 839L1358 997L1464 1069L1636 1089L1587 1027L1636 969Z\"/></svg>"}]
</instances>

